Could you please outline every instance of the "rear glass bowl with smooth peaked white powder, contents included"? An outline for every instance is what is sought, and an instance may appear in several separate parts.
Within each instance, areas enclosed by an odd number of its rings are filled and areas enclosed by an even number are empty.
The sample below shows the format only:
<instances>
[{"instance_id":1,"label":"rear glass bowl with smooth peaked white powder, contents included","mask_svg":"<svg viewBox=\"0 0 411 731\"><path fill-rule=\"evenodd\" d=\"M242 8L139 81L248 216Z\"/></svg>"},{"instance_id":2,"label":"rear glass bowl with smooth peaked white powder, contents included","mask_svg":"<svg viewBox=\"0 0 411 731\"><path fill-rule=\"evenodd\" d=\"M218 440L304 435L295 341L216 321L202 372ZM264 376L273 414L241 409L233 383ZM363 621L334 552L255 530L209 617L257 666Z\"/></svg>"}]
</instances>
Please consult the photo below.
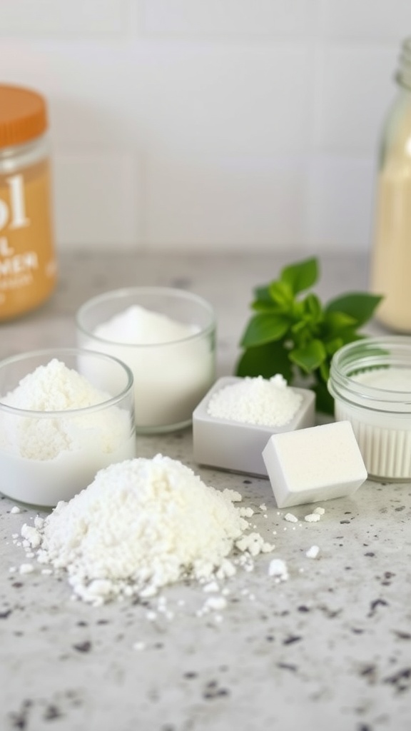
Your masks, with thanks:
<instances>
[{"instance_id":1,"label":"rear glass bowl with smooth peaked white powder, contents included","mask_svg":"<svg viewBox=\"0 0 411 731\"><path fill-rule=\"evenodd\" d=\"M216 370L216 322L206 300L169 287L116 289L84 303L76 324L80 347L131 368L137 433L192 423Z\"/></svg>"}]
</instances>

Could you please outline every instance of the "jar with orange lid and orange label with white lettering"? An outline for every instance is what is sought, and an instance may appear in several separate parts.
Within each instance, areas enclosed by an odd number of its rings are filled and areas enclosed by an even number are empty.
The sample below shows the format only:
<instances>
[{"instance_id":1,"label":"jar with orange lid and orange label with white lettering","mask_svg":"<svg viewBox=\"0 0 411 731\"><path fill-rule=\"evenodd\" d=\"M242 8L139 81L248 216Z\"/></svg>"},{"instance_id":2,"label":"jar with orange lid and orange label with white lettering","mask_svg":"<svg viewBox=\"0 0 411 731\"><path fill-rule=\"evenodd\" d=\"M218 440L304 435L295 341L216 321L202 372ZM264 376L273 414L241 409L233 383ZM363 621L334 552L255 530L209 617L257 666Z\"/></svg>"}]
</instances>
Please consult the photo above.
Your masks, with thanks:
<instances>
[{"instance_id":1,"label":"jar with orange lid and orange label with white lettering","mask_svg":"<svg viewBox=\"0 0 411 731\"><path fill-rule=\"evenodd\" d=\"M48 113L44 97L0 85L0 322L56 286Z\"/></svg>"}]
</instances>

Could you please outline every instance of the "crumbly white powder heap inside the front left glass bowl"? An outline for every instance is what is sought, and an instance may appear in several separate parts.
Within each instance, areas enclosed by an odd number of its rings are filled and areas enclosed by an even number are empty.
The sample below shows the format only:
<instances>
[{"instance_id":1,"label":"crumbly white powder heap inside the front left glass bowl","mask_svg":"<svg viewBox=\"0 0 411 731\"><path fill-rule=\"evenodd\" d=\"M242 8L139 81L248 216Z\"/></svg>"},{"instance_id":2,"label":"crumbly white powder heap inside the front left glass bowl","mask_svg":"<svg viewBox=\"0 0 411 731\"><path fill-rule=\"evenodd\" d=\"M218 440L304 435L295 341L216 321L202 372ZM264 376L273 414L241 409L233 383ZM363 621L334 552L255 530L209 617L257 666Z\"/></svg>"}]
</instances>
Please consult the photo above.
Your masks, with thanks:
<instances>
[{"instance_id":1,"label":"crumbly white powder heap inside the front left glass bowl","mask_svg":"<svg viewBox=\"0 0 411 731\"><path fill-rule=\"evenodd\" d=\"M36 412L69 412L108 401L110 395L95 389L78 371L53 358L21 379L1 402L16 409ZM0 448L22 458L52 460L61 452L84 447L85 440L99 443L102 452L113 452L129 434L128 415L121 409L104 414L67 414L43 418L1 412Z\"/></svg>"}]
</instances>

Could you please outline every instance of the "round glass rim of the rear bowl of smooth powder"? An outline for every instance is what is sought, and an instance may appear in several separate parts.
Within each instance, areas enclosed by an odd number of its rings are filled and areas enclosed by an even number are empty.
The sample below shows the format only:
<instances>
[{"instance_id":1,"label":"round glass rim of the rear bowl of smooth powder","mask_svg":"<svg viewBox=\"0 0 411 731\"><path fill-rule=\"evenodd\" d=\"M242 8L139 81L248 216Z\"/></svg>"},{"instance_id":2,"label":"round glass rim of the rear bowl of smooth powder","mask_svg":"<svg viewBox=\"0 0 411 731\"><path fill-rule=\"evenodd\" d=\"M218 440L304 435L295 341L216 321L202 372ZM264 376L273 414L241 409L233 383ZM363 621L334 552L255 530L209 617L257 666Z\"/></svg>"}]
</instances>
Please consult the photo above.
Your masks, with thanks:
<instances>
[{"instance_id":1,"label":"round glass rim of the rear bowl of smooth powder","mask_svg":"<svg viewBox=\"0 0 411 731\"><path fill-rule=\"evenodd\" d=\"M88 328L84 327L83 325L83 316L84 314L90 310L90 308L94 306L98 306L100 303L108 302L110 300L117 300L120 301L121 298L129 297L130 295L166 295L171 296L175 299L181 298L182 300L191 300L192 302L197 303L198 305L202 306L207 312L210 319L210 322L208 322L208 325L205 327L200 327L200 330L195 331L194 333L190 333L189 335L185 336L184 338L177 338L176 340L170 340L165 342L159 342L159 343L127 343L121 340L113 340L110 338L103 338L102 336L95 335L92 330L89 330ZM102 292L100 295L96 295L95 297L90 298L89 300L86 300L86 302L83 303L78 308L78 311L75 315L75 322L78 327L78 330L83 333L88 338L92 338L93 340L104 343L105 345L119 345L121 347L124 347L125 349L154 349L154 348L167 348L170 346L176 346L178 344L187 343L193 340L196 340L198 338L203 338L204 336L210 335L214 332L216 328L216 314L214 311L213 306L211 303L208 302L205 298L201 297L200 295L195 294L194 292L188 292L186 289L178 289L178 287L151 287L151 286L138 286L138 287L121 287L120 289L110 289L108 292Z\"/></svg>"}]
</instances>

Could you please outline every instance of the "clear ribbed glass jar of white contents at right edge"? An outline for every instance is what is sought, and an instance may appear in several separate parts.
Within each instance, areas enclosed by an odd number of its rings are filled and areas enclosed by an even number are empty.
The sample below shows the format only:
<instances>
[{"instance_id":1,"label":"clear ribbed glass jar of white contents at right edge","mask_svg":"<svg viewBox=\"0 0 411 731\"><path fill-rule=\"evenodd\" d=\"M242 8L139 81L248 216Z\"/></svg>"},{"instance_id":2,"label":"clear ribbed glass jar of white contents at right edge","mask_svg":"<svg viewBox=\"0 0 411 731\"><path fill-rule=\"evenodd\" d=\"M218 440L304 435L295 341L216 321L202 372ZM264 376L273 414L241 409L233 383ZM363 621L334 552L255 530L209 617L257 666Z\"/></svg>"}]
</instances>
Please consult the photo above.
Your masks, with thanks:
<instances>
[{"instance_id":1,"label":"clear ribbed glass jar of white contents at right edge","mask_svg":"<svg viewBox=\"0 0 411 731\"><path fill-rule=\"evenodd\" d=\"M411 482L411 337L363 338L331 360L337 421L350 421L370 479Z\"/></svg>"}]
</instances>

